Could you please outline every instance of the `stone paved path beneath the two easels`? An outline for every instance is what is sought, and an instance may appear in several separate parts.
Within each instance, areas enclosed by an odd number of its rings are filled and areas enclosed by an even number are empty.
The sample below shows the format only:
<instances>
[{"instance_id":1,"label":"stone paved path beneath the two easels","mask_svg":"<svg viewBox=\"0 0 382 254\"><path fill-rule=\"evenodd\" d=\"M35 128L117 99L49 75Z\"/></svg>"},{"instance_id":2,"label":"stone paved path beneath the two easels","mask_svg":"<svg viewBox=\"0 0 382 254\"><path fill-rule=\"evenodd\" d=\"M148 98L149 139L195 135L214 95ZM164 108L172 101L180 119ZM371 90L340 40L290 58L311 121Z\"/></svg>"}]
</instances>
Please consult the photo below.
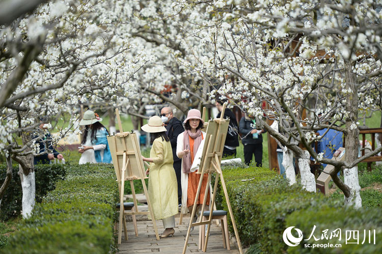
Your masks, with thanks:
<instances>
[{"instance_id":1,"label":"stone paved path beneath the two easels","mask_svg":"<svg viewBox=\"0 0 382 254\"><path fill-rule=\"evenodd\" d=\"M132 222L127 222L128 240L124 239L122 233L122 244L118 246L121 254L125 253L182 253L184 241L189 223L189 215L183 217L182 225L179 225L179 214L175 216L175 234L174 237L168 237L157 241L155 239L154 229L151 220L137 221L139 236L134 234ZM158 233L163 232L163 224L161 220L156 221ZM199 227L190 234L188 238L188 247L186 253L203 252L198 249ZM231 242L231 250L223 248L223 238L221 225L211 223L211 235L208 239L206 253L239 253L237 247Z\"/></svg>"}]
</instances>

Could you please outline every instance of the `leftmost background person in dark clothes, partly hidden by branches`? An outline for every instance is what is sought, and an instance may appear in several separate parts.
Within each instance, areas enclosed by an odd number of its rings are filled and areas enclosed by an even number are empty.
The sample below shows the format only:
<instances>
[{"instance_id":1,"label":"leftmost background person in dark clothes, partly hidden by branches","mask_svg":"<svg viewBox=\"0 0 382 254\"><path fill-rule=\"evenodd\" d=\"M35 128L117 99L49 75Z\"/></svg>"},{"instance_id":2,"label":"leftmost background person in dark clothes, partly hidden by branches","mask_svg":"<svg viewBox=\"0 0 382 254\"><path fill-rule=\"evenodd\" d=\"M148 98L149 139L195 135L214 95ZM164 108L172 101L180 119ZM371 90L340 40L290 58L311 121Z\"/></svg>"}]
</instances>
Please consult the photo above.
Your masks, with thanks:
<instances>
[{"instance_id":1,"label":"leftmost background person in dark clothes, partly hidden by branches","mask_svg":"<svg viewBox=\"0 0 382 254\"><path fill-rule=\"evenodd\" d=\"M41 130L47 129L46 126L44 125L48 123L48 119L40 118L40 121L41 121L41 124L39 125L39 128ZM38 136L39 135L35 135L33 139L37 138ZM56 149L53 148L51 140L52 138L48 131L43 137L38 138L36 140L36 144L39 147L39 154L41 155L34 156L33 162L35 165L38 163L49 164L51 160L54 160L54 158L57 158L59 160L62 160L64 158L64 156L61 153L57 152Z\"/></svg>"}]
</instances>

